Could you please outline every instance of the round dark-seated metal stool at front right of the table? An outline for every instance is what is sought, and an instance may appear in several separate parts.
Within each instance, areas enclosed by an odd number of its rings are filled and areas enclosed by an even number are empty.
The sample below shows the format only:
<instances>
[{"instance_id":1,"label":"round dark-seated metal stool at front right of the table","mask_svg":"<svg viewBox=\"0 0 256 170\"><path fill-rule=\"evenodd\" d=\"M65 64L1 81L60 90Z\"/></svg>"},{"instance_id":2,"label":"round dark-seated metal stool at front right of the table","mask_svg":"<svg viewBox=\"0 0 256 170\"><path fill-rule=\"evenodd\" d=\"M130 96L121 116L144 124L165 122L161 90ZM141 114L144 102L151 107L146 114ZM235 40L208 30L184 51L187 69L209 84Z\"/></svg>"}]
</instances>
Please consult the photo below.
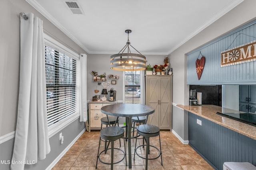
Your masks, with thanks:
<instances>
[{"instance_id":1,"label":"round dark-seated metal stool at front right of the table","mask_svg":"<svg viewBox=\"0 0 256 170\"><path fill-rule=\"evenodd\" d=\"M141 135L142 137L145 137L146 138L146 158L140 156L138 153L137 153L137 149L142 147L142 146L145 146L145 145L140 145L136 148L136 144L137 144L137 138L136 138L136 142L135 142L135 151L134 151L134 160L135 160L135 153L140 157L140 158L143 158L143 159L146 159L146 170L148 170L148 160L153 160L153 159L157 159L161 156L161 164L163 165L163 160L162 160L162 150L161 150L161 141L160 141L160 129L159 127L157 126L154 126L154 125L147 125L147 124L144 124L144 125L139 125L137 127L137 133L139 135ZM156 148L155 146L152 146L150 145L149 143L149 138L150 137L156 137L156 136L159 136L159 143L160 143L160 150L158 148ZM159 155L156 156L155 158L148 158L148 154L149 154L149 147L154 147L156 150L158 150L159 152Z\"/></svg>"}]
</instances>

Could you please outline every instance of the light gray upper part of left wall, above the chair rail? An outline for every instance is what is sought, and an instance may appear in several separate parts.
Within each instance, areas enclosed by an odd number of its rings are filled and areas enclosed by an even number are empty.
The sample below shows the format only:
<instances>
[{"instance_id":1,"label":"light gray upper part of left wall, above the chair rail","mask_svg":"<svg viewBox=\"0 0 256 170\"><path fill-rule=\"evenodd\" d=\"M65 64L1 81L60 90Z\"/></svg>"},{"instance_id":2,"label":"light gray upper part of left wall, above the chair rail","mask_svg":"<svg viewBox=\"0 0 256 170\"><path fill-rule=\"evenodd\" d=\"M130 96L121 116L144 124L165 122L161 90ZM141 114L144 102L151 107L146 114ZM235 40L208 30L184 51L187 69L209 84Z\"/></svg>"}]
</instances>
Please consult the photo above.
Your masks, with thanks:
<instances>
[{"instance_id":1,"label":"light gray upper part of left wall, above the chair rail","mask_svg":"<svg viewBox=\"0 0 256 170\"><path fill-rule=\"evenodd\" d=\"M43 20L44 32L54 35L79 53L86 53L25 0L1 0L0 11L0 136L16 130L19 69L20 69L20 12L34 13ZM50 36L52 36L50 35Z\"/></svg>"}]
</instances>

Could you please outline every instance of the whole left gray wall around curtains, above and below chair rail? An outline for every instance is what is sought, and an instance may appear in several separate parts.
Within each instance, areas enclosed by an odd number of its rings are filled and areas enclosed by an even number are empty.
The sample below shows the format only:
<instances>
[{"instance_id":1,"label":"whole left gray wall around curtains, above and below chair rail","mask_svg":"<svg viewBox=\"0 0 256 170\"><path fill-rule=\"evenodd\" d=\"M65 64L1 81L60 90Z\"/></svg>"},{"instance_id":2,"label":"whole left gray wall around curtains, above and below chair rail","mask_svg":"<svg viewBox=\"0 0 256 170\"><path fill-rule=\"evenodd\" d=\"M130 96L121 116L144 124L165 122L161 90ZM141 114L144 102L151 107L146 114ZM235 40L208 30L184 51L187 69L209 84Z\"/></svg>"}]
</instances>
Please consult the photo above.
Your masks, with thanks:
<instances>
[{"instance_id":1,"label":"whole left gray wall around curtains, above and below chair rail","mask_svg":"<svg viewBox=\"0 0 256 170\"><path fill-rule=\"evenodd\" d=\"M0 11L0 137L16 130L19 69L20 69L20 12L30 13L43 20L44 32L68 45L78 53L86 53L62 31L30 6L25 0L1 0ZM71 123L61 132L64 144L59 144L59 133L50 138L51 152L45 160L26 169L45 169L66 148L71 141L84 129L84 123L79 119ZM12 157L14 138L0 144L0 160L10 160ZM7 168L6 168L7 167ZM31 168L32 167L32 168ZM9 165L0 164L0 169L9 169Z\"/></svg>"}]
</instances>

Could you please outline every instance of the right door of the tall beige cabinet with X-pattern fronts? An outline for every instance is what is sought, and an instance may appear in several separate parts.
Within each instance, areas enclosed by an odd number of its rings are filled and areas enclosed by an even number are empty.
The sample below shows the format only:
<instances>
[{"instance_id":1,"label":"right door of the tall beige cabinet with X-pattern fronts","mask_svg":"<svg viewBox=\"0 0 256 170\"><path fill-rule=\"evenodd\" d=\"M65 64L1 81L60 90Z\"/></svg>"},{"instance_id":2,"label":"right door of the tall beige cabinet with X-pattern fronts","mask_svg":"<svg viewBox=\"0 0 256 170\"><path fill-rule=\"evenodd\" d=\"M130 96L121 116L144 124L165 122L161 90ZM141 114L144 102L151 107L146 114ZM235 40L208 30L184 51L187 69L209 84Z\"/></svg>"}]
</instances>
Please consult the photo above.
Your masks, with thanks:
<instances>
[{"instance_id":1,"label":"right door of the tall beige cabinet with X-pattern fronts","mask_svg":"<svg viewBox=\"0 0 256 170\"><path fill-rule=\"evenodd\" d=\"M160 77L160 102L159 102L159 128L170 129L172 125L172 110L171 110L171 81L170 77Z\"/></svg>"}]
</instances>

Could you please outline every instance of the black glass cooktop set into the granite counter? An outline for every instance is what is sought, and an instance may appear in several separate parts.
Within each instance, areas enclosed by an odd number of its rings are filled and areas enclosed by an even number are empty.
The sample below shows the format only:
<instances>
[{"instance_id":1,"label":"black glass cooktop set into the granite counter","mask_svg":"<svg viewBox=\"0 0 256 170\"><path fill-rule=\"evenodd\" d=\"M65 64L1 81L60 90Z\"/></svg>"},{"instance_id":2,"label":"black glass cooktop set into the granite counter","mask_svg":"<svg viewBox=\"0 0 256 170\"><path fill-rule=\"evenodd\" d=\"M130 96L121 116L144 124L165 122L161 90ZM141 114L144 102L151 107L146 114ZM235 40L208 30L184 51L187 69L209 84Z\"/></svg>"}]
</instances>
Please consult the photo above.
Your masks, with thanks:
<instances>
[{"instance_id":1,"label":"black glass cooktop set into the granite counter","mask_svg":"<svg viewBox=\"0 0 256 170\"><path fill-rule=\"evenodd\" d=\"M219 113L217 112L216 114L229 117L230 119L241 121L249 125L256 126L256 114L254 113Z\"/></svg>"}]
</instances>

